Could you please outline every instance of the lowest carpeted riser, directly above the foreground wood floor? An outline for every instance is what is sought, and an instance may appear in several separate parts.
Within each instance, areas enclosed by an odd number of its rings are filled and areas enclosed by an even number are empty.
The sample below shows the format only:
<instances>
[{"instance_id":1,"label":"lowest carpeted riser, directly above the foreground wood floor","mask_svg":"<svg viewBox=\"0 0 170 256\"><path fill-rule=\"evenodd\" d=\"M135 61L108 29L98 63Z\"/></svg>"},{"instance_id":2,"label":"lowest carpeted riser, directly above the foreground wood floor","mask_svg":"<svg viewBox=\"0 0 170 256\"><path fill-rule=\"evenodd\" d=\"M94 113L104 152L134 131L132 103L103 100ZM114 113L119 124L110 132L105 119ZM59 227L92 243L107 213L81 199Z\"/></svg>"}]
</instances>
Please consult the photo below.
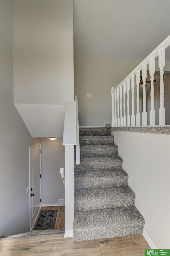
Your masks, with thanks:
<instances>
[{"instance_id":1,"label":"lowest carpeted riser, directly above the foreground wood floor","mask_svg":"<svg viewBox=\"0 0 170 256\"><path fill-rule=\"evenodd\" d=\"M93 229L93 230L74 230L74 241L84 241L93 239L104 239L111 237L123 237L130 235L142 235L143 225L124 227L121 229Z\"/></svg>"}]
</instances>

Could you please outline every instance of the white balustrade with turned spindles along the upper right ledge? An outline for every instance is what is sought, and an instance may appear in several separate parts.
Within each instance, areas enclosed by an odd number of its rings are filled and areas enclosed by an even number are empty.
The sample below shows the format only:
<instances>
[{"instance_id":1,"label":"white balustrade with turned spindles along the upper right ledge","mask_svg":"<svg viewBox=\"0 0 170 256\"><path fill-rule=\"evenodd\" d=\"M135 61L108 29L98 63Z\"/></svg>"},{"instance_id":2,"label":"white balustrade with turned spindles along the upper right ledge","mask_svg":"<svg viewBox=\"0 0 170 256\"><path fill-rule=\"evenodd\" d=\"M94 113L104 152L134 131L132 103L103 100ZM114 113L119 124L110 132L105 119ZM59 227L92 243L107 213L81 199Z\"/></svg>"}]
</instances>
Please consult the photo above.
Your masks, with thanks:
<instances>
[{"instance_id":1,"label":"white balustrade with turned spindles along the upper right ledge","mask_svg":"<svg viewBox=\"0 0 170 256\"><path fill-rule=\"evenodd\" d=\"M140 99L139 99L139 84L140 72L142 71L143 80L143 112L142 126L147 126L147 111L146 111L146 78L147 65L149 65L149 73L151 76L151 109L150 109L150 126L155 125L155 109L154 109L154 73L155 73L155 58L158 56L160 69L160 108L159 108L159 126L165 125L165 107L164 107L164 66L165 66L165 49L170 46L170 35L162 42L154 51L152 51L118 86L111 89L112 97L112 127L119 126L141 126ZM135 85L136 84L136 85ZM131 87L131 90L130 90ZM122 91L123 89L123 91ZM137 91L137 97L134 99L134 89ZM122 92L123 92L123 117L122 117ZM127 105L125 101L127 93ZM131 118L130 118L130 98L131 93ZM120 97L120 109L119 109ZM117 104L116 104L117 103ZM135 113L136 107L136 113ZM126 111L127 110L127 111ZM127 113L127 116L126 116ZM136 116L136 118L135 118ZM131 120L130 120L131 119ZM131 123L130 123L131 121ZM123 123L122 123L123 122Z\"/></svg>"}]
</instances>

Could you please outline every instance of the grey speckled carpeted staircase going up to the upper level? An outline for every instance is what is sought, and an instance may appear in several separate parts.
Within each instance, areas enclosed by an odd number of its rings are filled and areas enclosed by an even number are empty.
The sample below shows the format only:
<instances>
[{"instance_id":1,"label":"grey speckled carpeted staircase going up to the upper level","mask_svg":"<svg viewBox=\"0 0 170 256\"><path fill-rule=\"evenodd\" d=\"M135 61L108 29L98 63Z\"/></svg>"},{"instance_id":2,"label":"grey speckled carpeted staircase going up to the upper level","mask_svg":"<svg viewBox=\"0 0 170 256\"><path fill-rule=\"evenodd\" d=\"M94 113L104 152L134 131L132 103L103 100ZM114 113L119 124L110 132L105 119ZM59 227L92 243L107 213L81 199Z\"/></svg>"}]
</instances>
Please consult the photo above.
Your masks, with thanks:
<instances>
[{"instance_id":1,"label":"grey speckled carpeted staircase going up to the upper level","mask_svg":"<svg viewBox=\"0 0 170 256\"><path fill-rule=\"evenodd\" d=\"M139 235L145 221L134 206L128 174L110 128L79 128L75 164L74 241Z\"/></svg>"}]
</instances>

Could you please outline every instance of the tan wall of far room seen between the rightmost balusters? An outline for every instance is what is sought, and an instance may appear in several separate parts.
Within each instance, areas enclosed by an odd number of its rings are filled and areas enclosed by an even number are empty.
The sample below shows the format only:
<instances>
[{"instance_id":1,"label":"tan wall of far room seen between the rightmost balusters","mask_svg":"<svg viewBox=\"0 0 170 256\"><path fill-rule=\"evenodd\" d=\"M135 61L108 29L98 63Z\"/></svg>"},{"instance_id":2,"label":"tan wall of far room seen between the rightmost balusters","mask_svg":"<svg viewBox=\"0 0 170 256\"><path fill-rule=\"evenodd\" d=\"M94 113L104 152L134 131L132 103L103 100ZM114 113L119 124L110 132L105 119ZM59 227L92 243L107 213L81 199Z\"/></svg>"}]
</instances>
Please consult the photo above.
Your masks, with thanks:
<instances>
[{"instance_id":1,"label":"tan wall of far room seen between the rightmost balusters","mask_svg":"<svg viewBox=\"0 0 170 256\"><path fill-rule=\"evenodd\" d=\"M155 124L159 125L159 108L160 108L160 80L154 85L154 109L155 109ZM149 111L151 110L151 90L146 94L146 111L147 120L149 125ZM167 77L164 78L164 107L165 107L165 124L170 125L170 74L167 73Z\"/></svg>"}]
</instances>

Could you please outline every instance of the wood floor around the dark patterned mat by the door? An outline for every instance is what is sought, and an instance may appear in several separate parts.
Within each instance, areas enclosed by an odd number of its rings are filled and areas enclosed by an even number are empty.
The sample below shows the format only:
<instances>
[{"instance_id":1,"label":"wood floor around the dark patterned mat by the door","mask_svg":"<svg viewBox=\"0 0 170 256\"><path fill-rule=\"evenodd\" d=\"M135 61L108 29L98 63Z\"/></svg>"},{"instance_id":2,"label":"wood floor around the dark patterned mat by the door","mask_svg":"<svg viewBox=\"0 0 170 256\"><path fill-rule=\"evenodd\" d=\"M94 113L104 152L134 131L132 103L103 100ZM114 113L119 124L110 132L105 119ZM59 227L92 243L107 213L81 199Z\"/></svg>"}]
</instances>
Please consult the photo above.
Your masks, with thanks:
<instances>
[{"instance_id":1,"label":"wood floor around the dark patterned mat by the door","mask_svg":"<svg viewBox=\"0 0 170 256\"><path fill-rule=\"evenodd\" d=\"M54 229L65 229L65 206L41 207L40 212L41 211L45 211L45 210L58 210ZM37 222L38 217L40 215L40 212L39 212L39 214L37 216L37 219L35 221L35 224L34 224L32 230L34 230L34 228L35 228L35 225L36 225L36 222Z\"/></svg>"}]
</instances>

